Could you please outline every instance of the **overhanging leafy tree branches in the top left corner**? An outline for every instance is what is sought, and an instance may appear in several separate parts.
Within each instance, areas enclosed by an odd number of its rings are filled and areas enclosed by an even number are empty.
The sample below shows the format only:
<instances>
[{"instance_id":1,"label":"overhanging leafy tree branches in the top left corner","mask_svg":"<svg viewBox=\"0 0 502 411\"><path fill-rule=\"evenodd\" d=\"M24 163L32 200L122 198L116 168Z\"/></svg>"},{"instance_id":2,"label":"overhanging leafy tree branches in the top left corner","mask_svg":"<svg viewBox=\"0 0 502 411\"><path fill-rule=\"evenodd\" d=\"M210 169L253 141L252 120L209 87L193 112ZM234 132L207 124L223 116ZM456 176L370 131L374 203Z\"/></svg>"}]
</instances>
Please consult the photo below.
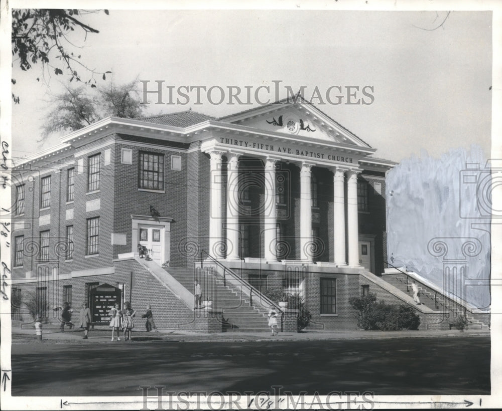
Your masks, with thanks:
<instances>
[{"instance_id":1,"label":"overhanging leafy tree branches in the top left corner","mask_svg":"<svg viewBox=\"0 0 502 411\"><path fill-rule=\"evenodd\" d=\"M98 30L84 24L80 17L91 13L100 13L99 10L71 10L71 9L21 9L12 11L12 55L13 65L19 63L22 70L30 70L32 64L42 63L43 73L48 68L49 73L54 70L56 75L66 72L70 76L70 81L82 81L76 68L81 67L86 73L90 73L90 78L85 84L96 87L94 75L98 73L90 69L80 61L80 55L72 50L75 46L68 35L75 30L83 32L84 41L87 34L99 33ZM104 10L108 15L108 11ZM16 60L16 58L18 60ZM59 60L59 64L55 64ZM110 73L110 72L106 72ZM37 78L40 81L40 77ZM12 79L16 84L16 80ZM15 103L19 103L19 97L14 93L12 98Z\"/></svg>"}]
</instances>

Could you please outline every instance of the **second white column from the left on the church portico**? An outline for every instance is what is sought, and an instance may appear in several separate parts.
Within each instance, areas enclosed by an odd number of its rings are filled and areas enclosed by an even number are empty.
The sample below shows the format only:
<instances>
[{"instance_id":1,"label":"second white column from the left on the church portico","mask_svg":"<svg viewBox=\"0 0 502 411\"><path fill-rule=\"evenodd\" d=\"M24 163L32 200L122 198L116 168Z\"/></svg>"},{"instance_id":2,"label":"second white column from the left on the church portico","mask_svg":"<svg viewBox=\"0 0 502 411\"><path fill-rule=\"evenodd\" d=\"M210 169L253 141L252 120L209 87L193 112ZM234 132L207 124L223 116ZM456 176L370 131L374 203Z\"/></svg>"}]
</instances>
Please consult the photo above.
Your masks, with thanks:
<instances>
[{"instance_id":1,"label":"second white column from the left on the church portico","mask_svg":"<svg viewBox=\"0 0 502 411\"><path fill-rule=\"evenodd\" d=\"M227 154L226 258L239 260L239 156Z\"/></svg>"}]
</instances>

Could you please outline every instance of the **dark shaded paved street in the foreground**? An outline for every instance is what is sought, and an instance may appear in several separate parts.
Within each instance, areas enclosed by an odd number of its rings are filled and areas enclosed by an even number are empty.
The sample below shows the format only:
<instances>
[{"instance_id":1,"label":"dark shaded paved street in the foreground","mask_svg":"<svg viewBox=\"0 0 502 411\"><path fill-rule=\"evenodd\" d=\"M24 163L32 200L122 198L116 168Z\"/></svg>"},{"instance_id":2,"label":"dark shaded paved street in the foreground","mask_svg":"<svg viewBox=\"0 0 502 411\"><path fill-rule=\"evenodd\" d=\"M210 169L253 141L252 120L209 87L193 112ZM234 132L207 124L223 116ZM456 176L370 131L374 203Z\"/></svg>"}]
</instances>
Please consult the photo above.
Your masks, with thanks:
<instances>
[{"instance_id":1,"label":"dark shaded paved street in the foreground","mask_svg":"<svg viewBox=\"0 0 502 411\"><path fill-rule=\"evenodd\" d=\"M488 394L489 337L13 344L13 395L168 391Z\"/></svg>"}]
</instances>

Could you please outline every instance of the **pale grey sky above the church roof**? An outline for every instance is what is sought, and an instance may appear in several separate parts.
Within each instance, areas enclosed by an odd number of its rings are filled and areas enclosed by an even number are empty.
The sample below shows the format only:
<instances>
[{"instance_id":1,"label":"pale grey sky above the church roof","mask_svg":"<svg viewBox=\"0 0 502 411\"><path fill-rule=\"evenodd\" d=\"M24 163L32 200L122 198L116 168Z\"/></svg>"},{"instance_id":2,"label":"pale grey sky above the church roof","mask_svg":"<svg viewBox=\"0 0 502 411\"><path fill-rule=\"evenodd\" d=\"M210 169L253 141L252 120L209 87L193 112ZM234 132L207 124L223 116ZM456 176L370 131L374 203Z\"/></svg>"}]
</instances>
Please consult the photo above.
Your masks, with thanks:
<instances>
[{"instance_id":1,"label":"pale grey sky above the church roof","mask_svg":"<svg viewBox=\"0 0 502 411\"><path fill-rule=\"evenodd\" d=\"M490 153L491 12L315 10L110 10L84 21L99 34L72 41L82 61L112 71L113 81L138 78L178 86L272 85L299 90L317 86L373 87L372 104L314 104L372 147L374 156L399 162L426 150L440 156L451 148L479 144ZM428 29L428 30L425 30ZM37 143L51 95L67 77L45 77L40 64L22 72L14 61L12 106L15 157L59 143ZM85 74L80 73L83 78ZM97 86L105 81L97 77ZM110 75L107 82L111 80ZM44 84L43 84L44 83ZM165 89L167 92L167 88ZM216 95L216 94L215 94ZM216 95L217 96L217 95ZM253 106L194 104L148 106L145 114L192 110L223 116ZM154 103L156 100L151 100ZM254 105L255 107L258 104Z\"/></svg>"}]
</instances>

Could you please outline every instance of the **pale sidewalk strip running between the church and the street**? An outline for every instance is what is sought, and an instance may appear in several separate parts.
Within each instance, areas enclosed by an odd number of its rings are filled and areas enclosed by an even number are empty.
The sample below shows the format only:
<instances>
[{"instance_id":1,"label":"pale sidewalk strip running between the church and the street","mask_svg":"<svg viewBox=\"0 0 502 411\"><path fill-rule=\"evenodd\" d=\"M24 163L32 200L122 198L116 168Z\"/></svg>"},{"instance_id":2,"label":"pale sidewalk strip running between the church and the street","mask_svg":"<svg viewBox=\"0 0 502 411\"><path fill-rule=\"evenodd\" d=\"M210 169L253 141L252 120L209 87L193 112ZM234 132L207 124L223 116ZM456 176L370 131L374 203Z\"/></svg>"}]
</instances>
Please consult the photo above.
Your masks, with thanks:
<instances>
[{"instance_id":1,"label":"pale sidewalk strip running between the church and the street","mask_svg":"<svg viewBox=\"0 0 502 411\"><path fill-rule=\"evenodd\" d=\"M49 328L53 327L53 328ZM146 332L133 330L131 342L172 341L172 342L249 342L249 341L300 341L300 340L337 340L337 339L385 339L385 338L431 338L431 337L476 337L490 336L489 330L434 330L434 331L361 331L361 330L312 330L302 332L280 332L272 337L268 332L222 332L199 333L183 330L159 330L160 332ZM89 330L88 339L83 339L83 330L65 329L44 324L43 341L46 343L112 343L109 327L95 327ZM12 327L12 343L26 344L37 343L35 328L31 325L14 325ZM129 343L128 341L115 341L116 343Z\"/></svg>"}]
</instances>

